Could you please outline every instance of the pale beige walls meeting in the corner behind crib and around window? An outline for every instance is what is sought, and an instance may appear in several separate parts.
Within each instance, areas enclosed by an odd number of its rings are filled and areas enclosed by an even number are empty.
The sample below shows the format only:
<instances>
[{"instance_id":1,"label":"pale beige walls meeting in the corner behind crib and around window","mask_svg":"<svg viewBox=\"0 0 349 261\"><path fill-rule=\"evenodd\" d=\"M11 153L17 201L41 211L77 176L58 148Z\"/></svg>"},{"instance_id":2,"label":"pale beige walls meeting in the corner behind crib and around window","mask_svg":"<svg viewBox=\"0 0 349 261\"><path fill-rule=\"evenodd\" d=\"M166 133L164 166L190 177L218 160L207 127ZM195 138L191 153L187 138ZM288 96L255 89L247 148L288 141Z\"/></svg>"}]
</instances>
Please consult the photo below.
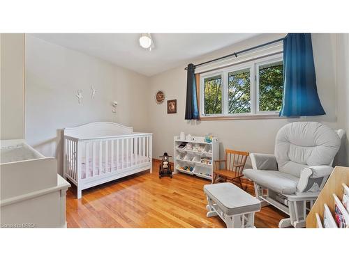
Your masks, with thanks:
<instances>
[{"instance_id":1,"label":"pale beige walls meeting in the corner behind crib and around window","mask_svg":"<svg viewBox=\"0 0 349 261\"><path fill-rule=\"evenodd\" d=\"M282 36L258 35L188 62L200 63ZM327 115L300 120L316 120L333 128L348 130L348 35L313 34L312 38L318 93ZM186 64L154 77L144 77L27 35L25 139L44 155L57 157L61 173L61 129L96 120L115 121L110 106L112 100L119 102L117 122L133 126L135 131L154 133L154 157L164 151L172 154L173 136L181 131L218 136L221 157L225 148L272 153L279 128L299 120L186 121L185 67ZM90 97L92 85L97 89L95 100ZM77 103L77 89L83 90L82 104ZM154 95L157 90L164 90L166 100L177 99L177 114L167 114L166 101L156 104ZM346 144L348 148L348 139ZM341 150L338 159L341 165L348 165L346 150L345 147Z\"/></svg>"}]
</instances>

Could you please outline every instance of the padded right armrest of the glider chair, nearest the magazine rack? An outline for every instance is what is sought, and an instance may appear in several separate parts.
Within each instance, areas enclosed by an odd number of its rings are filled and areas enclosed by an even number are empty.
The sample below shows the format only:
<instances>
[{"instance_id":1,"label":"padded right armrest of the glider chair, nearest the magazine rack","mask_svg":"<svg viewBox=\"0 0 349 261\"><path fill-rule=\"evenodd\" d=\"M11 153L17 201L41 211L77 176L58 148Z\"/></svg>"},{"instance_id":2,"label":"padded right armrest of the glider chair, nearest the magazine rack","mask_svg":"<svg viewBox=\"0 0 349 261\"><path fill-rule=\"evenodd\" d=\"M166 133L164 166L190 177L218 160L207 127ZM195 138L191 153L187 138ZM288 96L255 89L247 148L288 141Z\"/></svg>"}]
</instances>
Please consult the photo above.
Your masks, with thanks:
<instances>
[{"instance_id":1,"label":"padded right armrest of the glider chair, nearest the magazine rack","mask_svg":"<svg viewBox=\"0 0 349 261\"><path fill-rule=\"evenodd\" d=\"M302 168L299 182L297 184L297 191L303 192L309 191L309 189L313 190L314 183L318 184L318 186L315 184L315 189L319 189L323 180L322 177L328 177L332 171L332 166L326 165Z\"/></svg>"}]
</instances>

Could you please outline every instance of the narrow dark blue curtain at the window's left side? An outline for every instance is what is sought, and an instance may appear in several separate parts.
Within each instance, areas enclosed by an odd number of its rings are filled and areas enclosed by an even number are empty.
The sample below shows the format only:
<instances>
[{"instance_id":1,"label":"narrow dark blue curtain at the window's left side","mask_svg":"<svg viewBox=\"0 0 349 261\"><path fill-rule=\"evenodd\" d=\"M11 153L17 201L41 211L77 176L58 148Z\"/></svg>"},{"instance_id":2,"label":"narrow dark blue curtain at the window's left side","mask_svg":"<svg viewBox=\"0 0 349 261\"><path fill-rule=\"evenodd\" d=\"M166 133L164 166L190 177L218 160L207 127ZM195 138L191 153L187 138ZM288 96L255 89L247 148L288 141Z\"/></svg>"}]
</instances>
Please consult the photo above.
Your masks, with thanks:
<instances>
[{"instance_id":1,"label":"narrow dark blue curtain at the window's left side","mask_svg":"<svg viewBox=\"0 0 349 261\"><path fill-rule=\"evenodd\" d=\"M199 118L194 71L195 66L193 63L188 64L186 82L186 120L197 120Z\"/></svg>"}]
</instances>

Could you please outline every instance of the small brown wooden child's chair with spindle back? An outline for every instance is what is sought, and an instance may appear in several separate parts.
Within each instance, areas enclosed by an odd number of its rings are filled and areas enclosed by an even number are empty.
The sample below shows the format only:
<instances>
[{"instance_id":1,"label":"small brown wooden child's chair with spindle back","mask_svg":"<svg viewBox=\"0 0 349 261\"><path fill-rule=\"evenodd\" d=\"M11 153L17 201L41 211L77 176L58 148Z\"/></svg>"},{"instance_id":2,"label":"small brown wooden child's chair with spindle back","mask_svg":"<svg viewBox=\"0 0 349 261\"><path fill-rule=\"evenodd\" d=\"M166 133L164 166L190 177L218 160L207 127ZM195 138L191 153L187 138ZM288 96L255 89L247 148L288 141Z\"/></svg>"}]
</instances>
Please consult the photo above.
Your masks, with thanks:
<instances>
[{"instance_id":1,"label":"small brown wooden child's chair with spindle back","mask_svg":"<svg viewBox=\"0 0 349 261\"><path fill-rule=\"evenodd\" d=\"M242 171L244 170L248 155L248 152L225 150L225 159L214 161L216 169L212 175L212 183L215 183L220 177L223 178L225 182L227 182L227 180L230 180L230 182L238 180L240 187L243 189L241 177L243 176ZM224 169L221 169L221 162L225 162Z\"/></svg>"}]
</instances>

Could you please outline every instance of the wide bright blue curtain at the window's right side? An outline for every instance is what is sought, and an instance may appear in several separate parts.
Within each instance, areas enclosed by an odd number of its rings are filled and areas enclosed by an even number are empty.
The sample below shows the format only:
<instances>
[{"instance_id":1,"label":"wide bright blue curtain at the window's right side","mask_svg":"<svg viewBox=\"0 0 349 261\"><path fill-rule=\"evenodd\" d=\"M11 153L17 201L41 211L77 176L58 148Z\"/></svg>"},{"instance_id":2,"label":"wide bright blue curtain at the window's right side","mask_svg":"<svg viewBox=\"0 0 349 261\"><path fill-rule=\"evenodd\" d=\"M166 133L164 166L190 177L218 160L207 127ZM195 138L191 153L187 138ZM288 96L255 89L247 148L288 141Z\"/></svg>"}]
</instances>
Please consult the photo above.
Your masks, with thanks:
<instances>
[{"instance_id":1,"label":"wide bright blue curtain at the window's right side","mask_svg":"<svg viewBox=\"0 0 349 261\"><path fill-rule=\"evenodd\" d=\"M316 88L310 33L289 33L283 40L283 104L280 116L325 114Z\"/></svg>"}]
</instances>

